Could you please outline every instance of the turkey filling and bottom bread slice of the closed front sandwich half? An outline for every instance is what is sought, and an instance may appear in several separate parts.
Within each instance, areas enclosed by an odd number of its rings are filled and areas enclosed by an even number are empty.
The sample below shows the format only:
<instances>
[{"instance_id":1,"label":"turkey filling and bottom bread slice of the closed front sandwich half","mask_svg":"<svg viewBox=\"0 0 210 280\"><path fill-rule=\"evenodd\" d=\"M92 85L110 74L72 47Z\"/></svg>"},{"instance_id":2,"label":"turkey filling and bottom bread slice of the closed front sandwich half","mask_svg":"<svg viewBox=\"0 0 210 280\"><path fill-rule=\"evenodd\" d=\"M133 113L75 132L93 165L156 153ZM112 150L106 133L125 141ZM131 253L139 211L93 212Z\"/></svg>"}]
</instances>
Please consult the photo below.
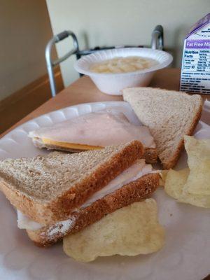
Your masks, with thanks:
<instances>
[{"instance_id":1,"label":"turkey filling and bottom bread slice of the closed front sandwich half","mask_svg":"<svg viewBox=\"0 0 210 280\"><path fill-rule=\"evenodd\" d=\"M99 221L106 214L149 197L159 186L159 174L151 165L138 160L134 165L113 179L107 186L94 193L69 219L52 225L34 225L33 221L18 218L18 227L27 230L29 238L38 246L49 246L66 235L83 230Z\"/></svg>"}]
</instances>

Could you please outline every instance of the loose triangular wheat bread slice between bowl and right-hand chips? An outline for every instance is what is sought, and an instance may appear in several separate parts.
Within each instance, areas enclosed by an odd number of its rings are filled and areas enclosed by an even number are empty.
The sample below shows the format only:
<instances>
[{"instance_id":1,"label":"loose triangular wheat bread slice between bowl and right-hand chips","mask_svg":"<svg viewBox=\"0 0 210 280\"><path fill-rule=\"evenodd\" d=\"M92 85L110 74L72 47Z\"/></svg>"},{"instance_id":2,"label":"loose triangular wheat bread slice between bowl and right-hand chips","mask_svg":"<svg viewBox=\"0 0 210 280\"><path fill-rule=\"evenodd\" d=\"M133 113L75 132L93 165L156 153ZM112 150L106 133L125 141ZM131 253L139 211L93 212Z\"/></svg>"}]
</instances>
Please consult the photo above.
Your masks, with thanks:
<instances>
[{"instance_id":1,"label":"loose triangular wheat bread slice between bowl and right-hand chips","mask_svg":"<svg viewBox=\"0 0 210 280\"><path fill-rule=\"evenodd\" d=\"M144 125L148 126L158 148L164 169L176 165L183 148L183 137L193 134L202 113L202 97L174 90L130 87L123 90Z\"/></svg>"}]
</instances>

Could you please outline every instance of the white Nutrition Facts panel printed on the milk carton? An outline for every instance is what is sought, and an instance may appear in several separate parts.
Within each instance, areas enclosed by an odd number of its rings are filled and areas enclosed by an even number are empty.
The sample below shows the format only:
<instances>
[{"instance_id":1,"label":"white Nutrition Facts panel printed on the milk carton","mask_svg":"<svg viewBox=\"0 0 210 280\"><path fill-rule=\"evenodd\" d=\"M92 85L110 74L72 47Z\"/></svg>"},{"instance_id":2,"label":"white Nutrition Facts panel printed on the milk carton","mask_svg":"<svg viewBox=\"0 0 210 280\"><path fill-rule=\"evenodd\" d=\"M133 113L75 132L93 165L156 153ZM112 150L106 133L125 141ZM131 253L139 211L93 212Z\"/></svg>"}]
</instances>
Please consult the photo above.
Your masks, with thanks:
<instances>
[{"instance_id":1,"label":"white Nutrition Facts panel printed on the milk carton","mask_svg":"<svg viewBox=\"0 0 210 280\"><path fill-rule=\"evenodd\" d=\"M181 90L210 94L210 49L185 49Z\"/></svg>"}]
</instances>

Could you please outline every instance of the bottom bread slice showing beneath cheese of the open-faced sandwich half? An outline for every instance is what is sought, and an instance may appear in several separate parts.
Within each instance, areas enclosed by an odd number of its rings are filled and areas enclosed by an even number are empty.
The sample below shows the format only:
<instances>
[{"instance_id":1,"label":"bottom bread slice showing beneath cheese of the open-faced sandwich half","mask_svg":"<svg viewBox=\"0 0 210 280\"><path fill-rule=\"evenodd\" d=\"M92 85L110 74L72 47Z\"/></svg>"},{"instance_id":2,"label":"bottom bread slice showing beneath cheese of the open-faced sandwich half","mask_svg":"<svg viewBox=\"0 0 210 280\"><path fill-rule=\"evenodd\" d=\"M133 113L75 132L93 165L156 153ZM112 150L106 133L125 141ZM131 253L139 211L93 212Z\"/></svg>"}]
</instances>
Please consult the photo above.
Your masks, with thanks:
<instances>
[{"instance_id":1,"label":"bottom bread slice showing beneath cheese of the open-faced sandwich half","mask_svg":"<svg viewBox=\"0 0 210 280\"><path fill-rule=\"evenodd\" d=\"M34 146L37 148L46 148L48 150L66 151L70 153L80 153L82 150L76 150L72 148L63 148L57 145L43 144L40 140L32 139ZM145 159L146 163L155 163L158 161L157 148L144 148L144 155L142 158Z\"/></svg>"}]
</instances>

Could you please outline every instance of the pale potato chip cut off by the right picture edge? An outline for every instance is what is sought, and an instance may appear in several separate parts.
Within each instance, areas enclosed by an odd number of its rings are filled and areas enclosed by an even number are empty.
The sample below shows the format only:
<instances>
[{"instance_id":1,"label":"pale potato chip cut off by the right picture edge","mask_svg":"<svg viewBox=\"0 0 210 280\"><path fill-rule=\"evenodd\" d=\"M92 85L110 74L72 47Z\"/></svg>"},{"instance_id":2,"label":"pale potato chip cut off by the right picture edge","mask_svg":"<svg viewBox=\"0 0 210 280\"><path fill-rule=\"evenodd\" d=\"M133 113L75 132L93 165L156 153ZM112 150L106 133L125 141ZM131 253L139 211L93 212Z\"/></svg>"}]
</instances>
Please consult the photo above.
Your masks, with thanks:
<instances>
[{"instance_id":1,"label":"pale potato chip cut off by the right picture edge","mask_svg":"<svg viewBox=\"0 0 210 280\"><path fill-rule=\"evenodd\" d=\"M210 195L210 139L185 137L190 174L183 189L195 195Z\"/></svg>"}]
</instances>

